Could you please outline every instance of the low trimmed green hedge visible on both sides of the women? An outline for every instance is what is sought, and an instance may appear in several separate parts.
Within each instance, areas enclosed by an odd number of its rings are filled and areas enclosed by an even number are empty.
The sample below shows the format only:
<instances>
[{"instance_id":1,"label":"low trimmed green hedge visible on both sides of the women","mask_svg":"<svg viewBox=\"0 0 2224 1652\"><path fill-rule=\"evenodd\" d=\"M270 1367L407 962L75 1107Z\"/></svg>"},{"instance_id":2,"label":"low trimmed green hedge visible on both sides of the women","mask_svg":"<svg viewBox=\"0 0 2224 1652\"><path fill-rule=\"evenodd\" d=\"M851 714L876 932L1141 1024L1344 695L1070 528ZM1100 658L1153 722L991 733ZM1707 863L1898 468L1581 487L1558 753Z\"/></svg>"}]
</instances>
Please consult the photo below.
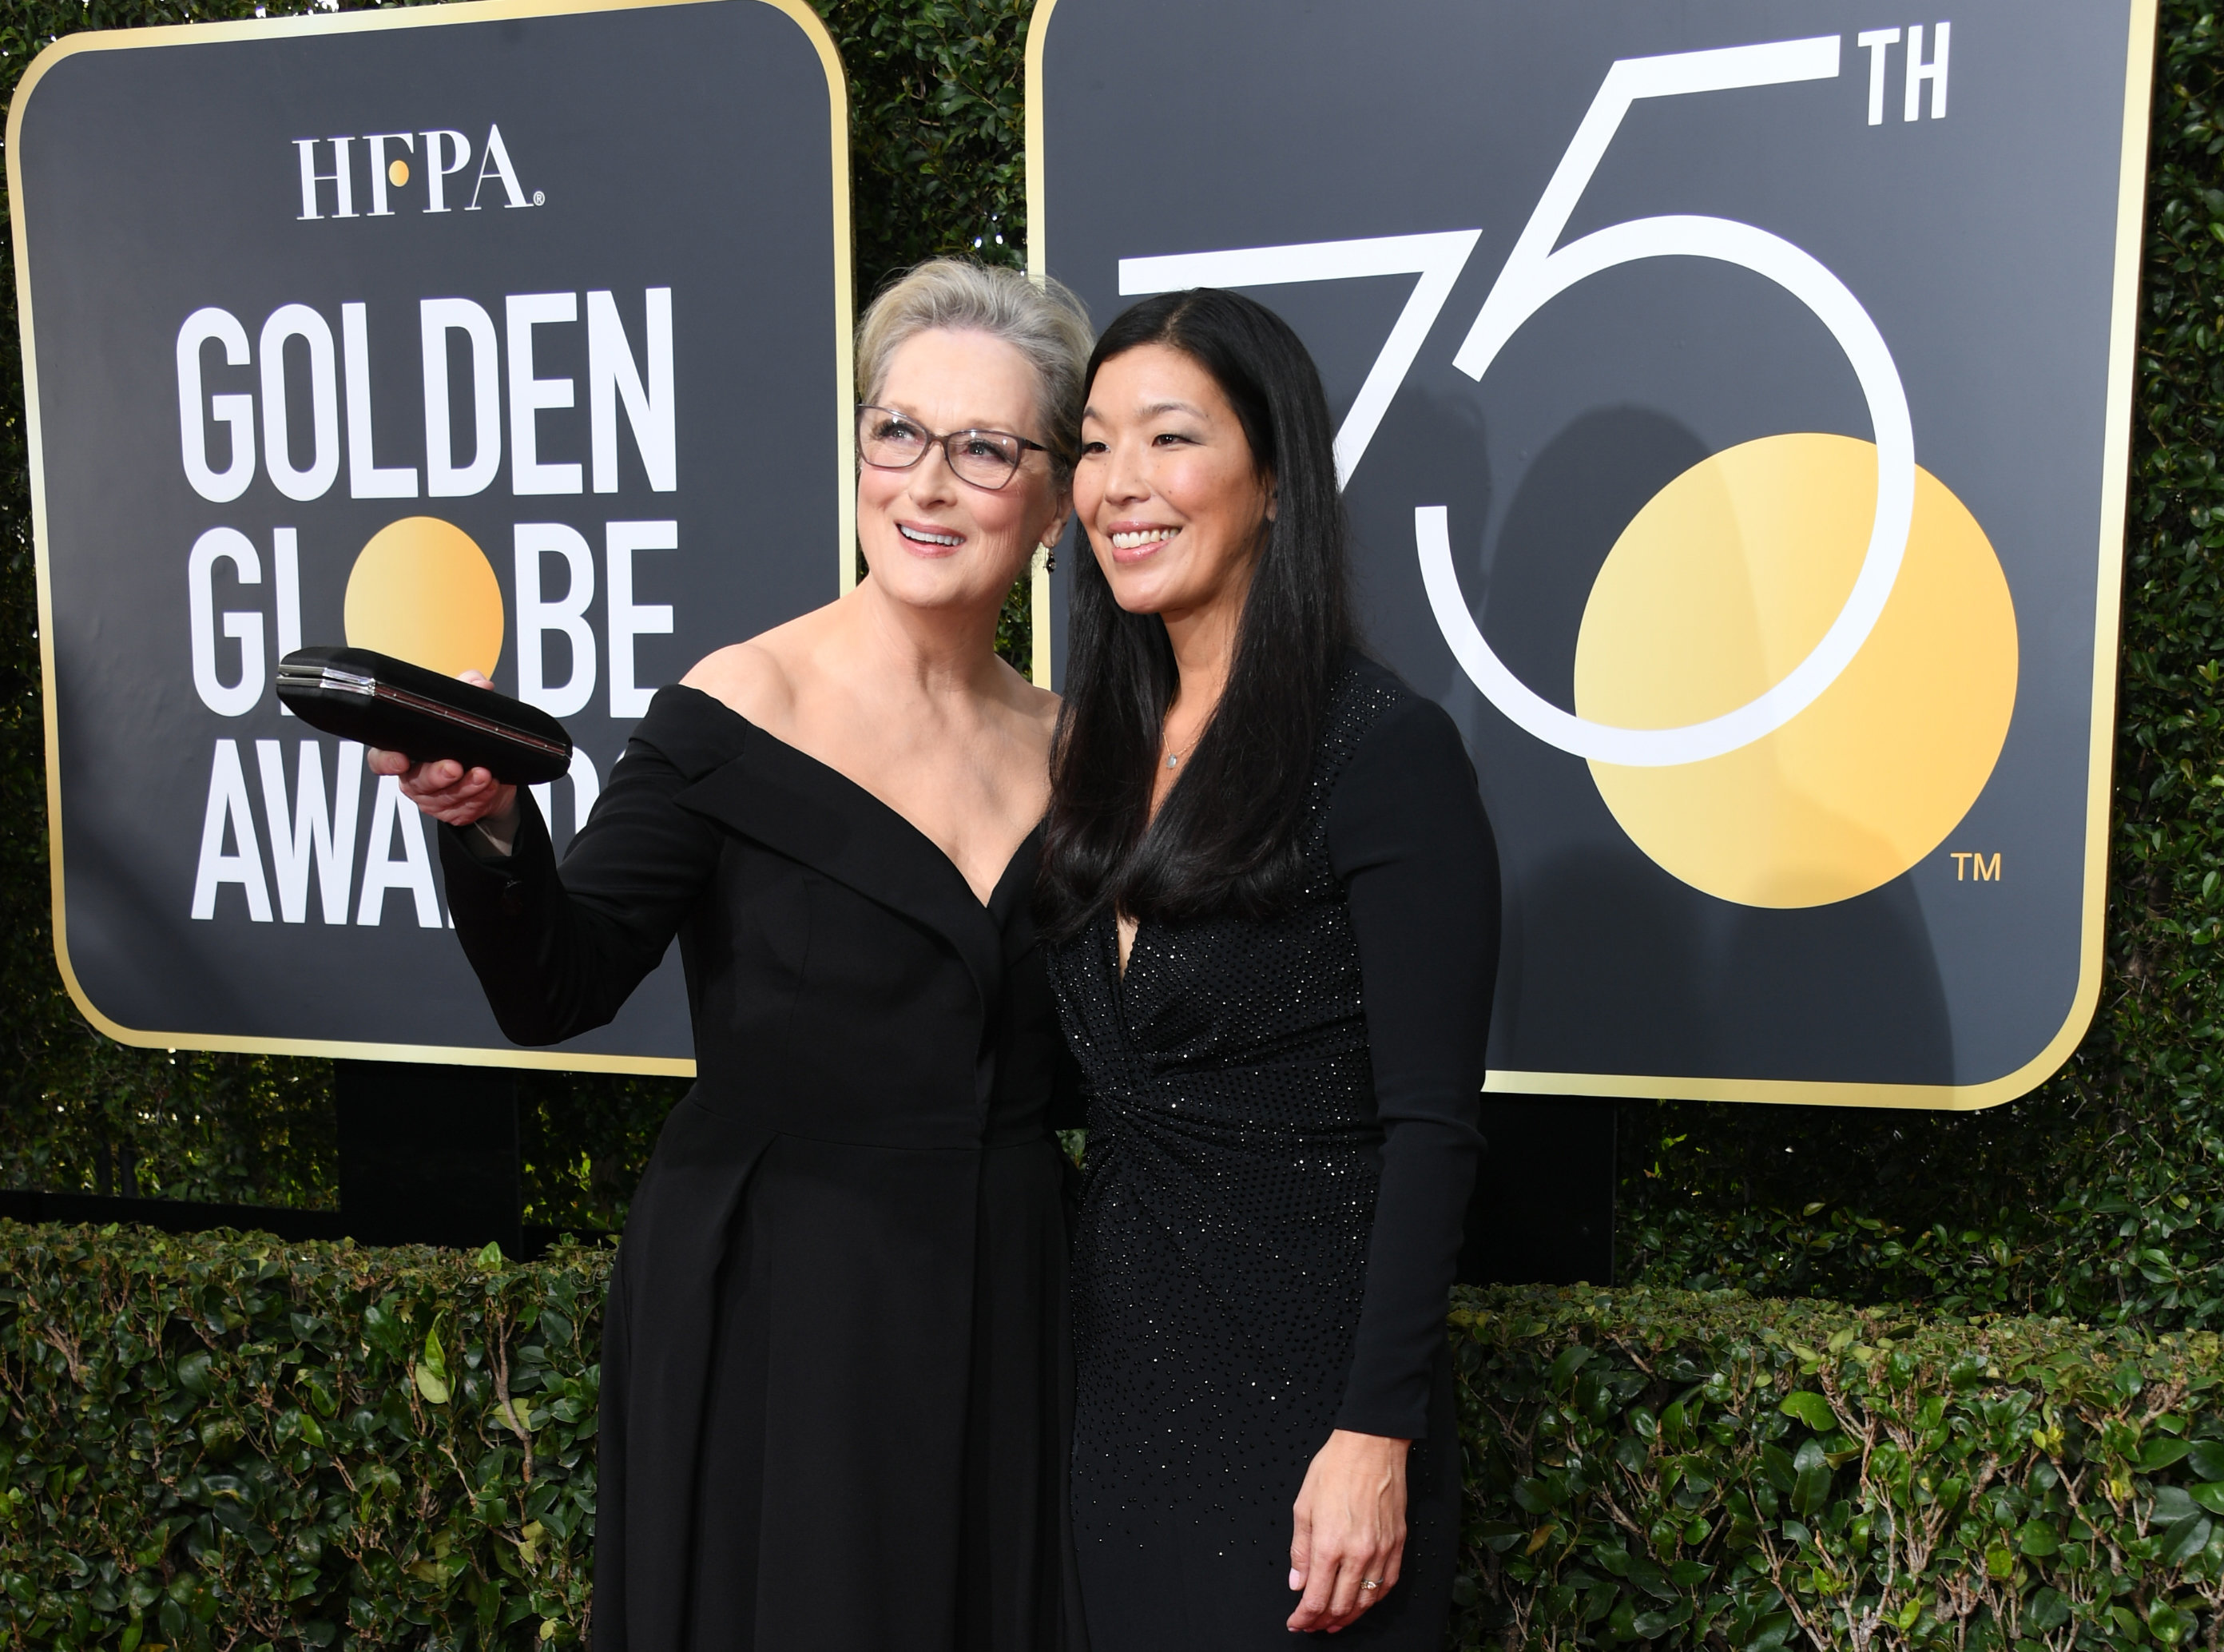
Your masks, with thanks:
<instances>
[{"instance_id":1,"label":"low trimmed green hedge visible on both sides of the women","mask_svg":"<svg viewBox=\"0 0 2224 1652\"><path fill-rule=\"evenodd\" d=\"M589 1628L605 1250L0 1223L0 1639ZM2224 1341L1668 1290L1461 1292L1452 1643L2224 1634Z\"/></svg>"}]
</instances>

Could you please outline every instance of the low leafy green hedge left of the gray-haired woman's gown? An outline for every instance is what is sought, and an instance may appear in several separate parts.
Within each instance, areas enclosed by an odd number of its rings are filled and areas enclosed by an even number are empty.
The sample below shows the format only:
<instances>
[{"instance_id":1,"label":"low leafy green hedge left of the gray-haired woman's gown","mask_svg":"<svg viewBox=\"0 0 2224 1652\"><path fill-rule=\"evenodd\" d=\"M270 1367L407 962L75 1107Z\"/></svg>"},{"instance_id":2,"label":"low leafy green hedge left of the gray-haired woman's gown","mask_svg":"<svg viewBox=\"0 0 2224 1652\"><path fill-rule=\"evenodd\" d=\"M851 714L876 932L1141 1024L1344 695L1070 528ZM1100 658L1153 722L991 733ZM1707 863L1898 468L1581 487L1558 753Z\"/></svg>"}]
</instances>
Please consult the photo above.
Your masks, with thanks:
<instances>
[{"instance_id":1,"label":"low leafy green hedge left of the gray-haired woman's gown","mask_svg":"<svg viewBox=\"0 0 2224 1652\"><path fill-rule=\"evenodd\" d=\"M605 1276L0 1223L7 1645L580 1641Z\"/></svg>"}]
</instances>

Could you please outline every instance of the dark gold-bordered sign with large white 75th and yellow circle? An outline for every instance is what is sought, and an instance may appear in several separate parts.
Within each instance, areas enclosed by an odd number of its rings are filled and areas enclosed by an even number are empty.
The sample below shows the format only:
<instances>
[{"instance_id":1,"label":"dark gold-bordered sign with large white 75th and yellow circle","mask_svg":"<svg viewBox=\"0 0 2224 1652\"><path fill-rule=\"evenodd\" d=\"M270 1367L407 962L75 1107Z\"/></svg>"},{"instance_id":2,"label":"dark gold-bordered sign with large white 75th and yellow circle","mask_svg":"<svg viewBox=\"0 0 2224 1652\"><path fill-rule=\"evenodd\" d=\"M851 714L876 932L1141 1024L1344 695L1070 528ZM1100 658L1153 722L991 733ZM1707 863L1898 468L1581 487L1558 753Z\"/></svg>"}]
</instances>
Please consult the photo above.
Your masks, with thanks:
<instances>
[{"instance_id":1,"label":"dark gold-bordered sign with large white 75th and yellow circle","mask_svg":"<svg viewBox=\"0 0 2224 1652\"><path fill-rule=\"evenodd\" d=\"M1321 362L1368 640L1499 836L1495 1089L1982 1107L2084 1032L2151 42L1039 7L1036 269L1099 325L1245 289Z\"/></svg>"}]
</instances>

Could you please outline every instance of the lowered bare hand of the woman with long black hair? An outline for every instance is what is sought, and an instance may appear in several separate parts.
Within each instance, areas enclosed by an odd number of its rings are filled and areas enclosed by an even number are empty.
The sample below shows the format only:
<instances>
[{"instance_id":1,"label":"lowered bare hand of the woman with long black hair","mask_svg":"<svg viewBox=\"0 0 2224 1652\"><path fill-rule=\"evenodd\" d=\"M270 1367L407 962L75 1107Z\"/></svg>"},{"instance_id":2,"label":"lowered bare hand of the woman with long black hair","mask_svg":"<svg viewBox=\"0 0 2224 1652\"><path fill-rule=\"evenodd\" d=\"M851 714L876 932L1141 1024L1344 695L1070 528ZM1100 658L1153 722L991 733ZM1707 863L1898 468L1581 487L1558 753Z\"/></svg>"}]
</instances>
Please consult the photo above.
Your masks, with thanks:
<instances>
[{"instance_id":1,"label":"lowered bare hand of the woman with long black hair","mask_svg":"<svg viewBox=\"0 0 2224 1652\"><path fill-rule=\"evenodd\" d=\"M1290 1539L1290 1588L1305 1592L1292 1630L1334 1634L1397 1588L1410 1443L1339 1427L1314 1454Z\"/></svg>"}]
</instances>

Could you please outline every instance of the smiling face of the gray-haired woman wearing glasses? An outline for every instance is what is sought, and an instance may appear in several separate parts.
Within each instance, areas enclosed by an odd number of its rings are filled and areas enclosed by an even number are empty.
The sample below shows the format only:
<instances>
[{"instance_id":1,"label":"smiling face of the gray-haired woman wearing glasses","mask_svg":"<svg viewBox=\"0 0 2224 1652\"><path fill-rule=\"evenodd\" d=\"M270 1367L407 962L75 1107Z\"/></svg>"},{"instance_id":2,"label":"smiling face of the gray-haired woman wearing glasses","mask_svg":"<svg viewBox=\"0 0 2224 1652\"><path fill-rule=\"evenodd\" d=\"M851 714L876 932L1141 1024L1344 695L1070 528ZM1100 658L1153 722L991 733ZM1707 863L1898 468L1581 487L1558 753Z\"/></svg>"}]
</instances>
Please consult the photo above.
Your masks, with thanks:
<instances>
[{"instance_id":1,"label":"smiling face of the gray-haired woman wearing glasses","mask_svg":"<svg viewBox=\"0 0 2224 1652\"><path fill-rule=\"evenodd\" d=\"M994 429L1045 440L1034 369L990 334L934 329L887 358L872 398L930 431ZM1027 449L1019 474L990 491L959 480L941 442L905 471L858 467L856 536L883 596L912 607L994 609L1036 545L1065 527L1050 456Z\"/></svg>"}]
</instances>

